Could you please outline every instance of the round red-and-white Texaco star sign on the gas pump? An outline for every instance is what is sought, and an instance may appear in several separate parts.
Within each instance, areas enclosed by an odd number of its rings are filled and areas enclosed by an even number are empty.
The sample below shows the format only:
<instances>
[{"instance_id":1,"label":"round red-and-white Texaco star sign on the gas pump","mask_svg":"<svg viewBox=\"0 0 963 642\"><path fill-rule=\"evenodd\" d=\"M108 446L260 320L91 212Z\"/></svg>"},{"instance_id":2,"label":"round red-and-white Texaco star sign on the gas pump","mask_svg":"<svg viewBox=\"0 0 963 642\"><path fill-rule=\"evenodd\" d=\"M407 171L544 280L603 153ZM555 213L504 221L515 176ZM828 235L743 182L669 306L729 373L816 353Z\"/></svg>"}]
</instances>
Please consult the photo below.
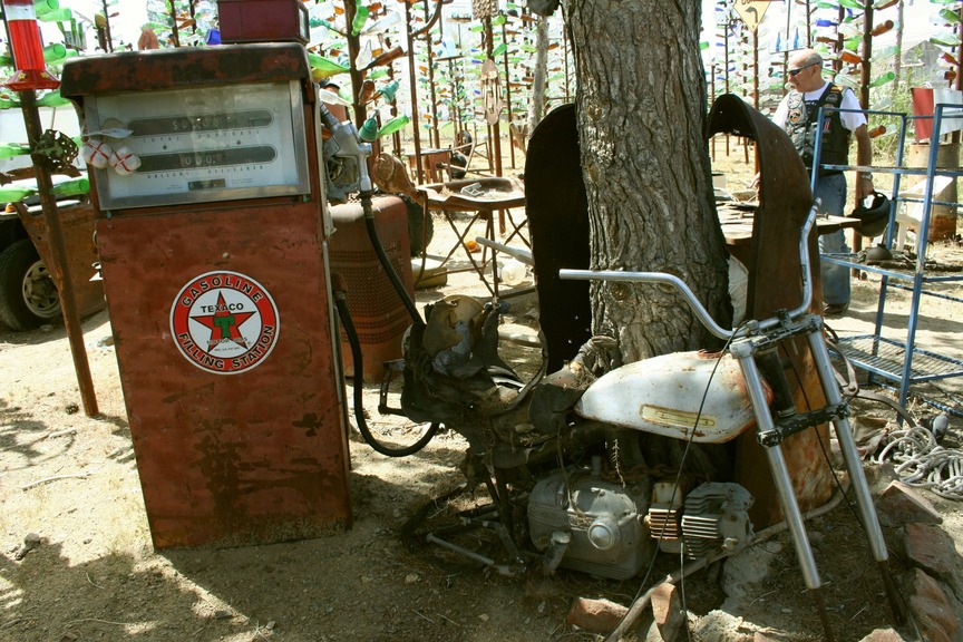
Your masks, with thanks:
<instances>
[{"instance_id":1,"label":"round red-and-white Texaco star sign on the gas pump","mask_svg":"<svg viewBox=\"0 0 963 642\"><path fill-rule=\"evenodd\" d=\"M171 308L171 332L197 368L236 374L259 366L278 342L278 307L263 285L237 272L207 272Z\"/></svg>"}]
</instances>

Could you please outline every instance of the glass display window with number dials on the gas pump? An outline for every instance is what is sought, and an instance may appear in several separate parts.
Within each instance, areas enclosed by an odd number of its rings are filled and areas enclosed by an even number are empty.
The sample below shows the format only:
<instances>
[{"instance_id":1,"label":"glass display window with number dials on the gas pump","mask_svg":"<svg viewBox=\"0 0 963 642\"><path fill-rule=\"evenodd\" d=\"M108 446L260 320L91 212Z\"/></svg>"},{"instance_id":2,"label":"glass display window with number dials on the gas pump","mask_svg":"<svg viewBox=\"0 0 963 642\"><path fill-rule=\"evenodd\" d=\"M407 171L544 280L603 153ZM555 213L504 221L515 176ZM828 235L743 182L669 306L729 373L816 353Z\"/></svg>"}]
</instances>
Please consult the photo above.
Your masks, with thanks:
<instances>
[{"instance_id":1,"label":"glass display window with number dials on the gas pump","mask_svg":"<svg viewBox=\"0 0 963 642\"><path fill-rule=\"evenodd\" d=\"M125 135L95 169L103 210L310 192L296 81L91 96L85 108L91 138Z\"/></svg>"}]
</instances>

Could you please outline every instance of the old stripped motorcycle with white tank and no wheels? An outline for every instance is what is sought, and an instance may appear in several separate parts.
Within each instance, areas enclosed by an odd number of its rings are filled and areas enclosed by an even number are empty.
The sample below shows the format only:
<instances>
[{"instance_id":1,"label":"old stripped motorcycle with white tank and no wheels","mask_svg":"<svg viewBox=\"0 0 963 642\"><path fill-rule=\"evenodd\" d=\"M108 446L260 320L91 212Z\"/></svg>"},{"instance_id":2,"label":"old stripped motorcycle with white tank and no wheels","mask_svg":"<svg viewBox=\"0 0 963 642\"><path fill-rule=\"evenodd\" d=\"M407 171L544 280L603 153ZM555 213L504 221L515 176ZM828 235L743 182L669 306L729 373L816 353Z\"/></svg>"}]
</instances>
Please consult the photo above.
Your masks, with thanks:
<instances>
[{"instance_id":1,"label":"old stripped motorcycle with white tank and no wheels","mask_svg":"<svg viewBox=\"0 0 963 642\"><path fill-rule=\"evenodd\" d=\"M346 138L353 136L346 124L329 119L328 125ZM346 156L364 152L363 145L359 152L348 143L342 149ZM364 164L358 165L363 184ZM361 200L366 222L373 222L368 189L362 189ZM414 324L403 359L387 369L379 411L401 414L429 428L410 446L379 442L367 427L356 382L358 428L372 447L390 456L416 453L439 425L459 432L469 444L463 466L465 489L484 485L490 498L458 514L456 524L419 534L505 574L532 568L552 573L562 566L624 580L640 574L656 549L690 558L718 556L752 541L752 497L738 484L718 480L726 475L713 469L716 458L703 448L726 444L755 426L805 584L815 597L826 639L831 640L821 581L780 447L795 432L830 422L891 607L901 621L848 405L834 377L823 320L809 313L815 212L814 206L800 230L798 307L733 330L719 327L689 286L671 274L562 271L563 279L674 288L710 333L726 342L717 352L678 352L621 366L613 357L613 341L594 338L567 367L549 374L543 359L542 369L524 382L498 354L497 304L450 296L426 307L422 321L396 283ZM369 232L377 251L373 223ZM383 256L382 263L388 265ZM350 338L350 314L343 305L339 312ZM779 349L796 339L811 352L826 401L823 408L795 407ZM357 341L352 353L358 368L362 356ZM392 373L400 373L403 382L400 408L387 402ZM419 523L420 516L409 521L411 532L418 533ZM458 539L477 529L494 535L494 552Z\"/></svg>"}]
</instances>

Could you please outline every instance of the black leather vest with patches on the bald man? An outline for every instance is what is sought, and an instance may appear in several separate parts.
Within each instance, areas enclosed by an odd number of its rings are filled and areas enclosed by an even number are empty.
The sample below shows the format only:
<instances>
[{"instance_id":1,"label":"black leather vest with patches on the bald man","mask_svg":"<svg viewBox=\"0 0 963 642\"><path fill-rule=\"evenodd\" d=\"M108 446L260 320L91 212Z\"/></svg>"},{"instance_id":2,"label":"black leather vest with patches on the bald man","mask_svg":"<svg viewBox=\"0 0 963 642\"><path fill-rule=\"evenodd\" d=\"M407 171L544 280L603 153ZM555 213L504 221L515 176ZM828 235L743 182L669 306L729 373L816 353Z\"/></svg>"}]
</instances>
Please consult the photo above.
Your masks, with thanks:
<instances>
[{"instance_id":1,"label":"black leather vest with patches on the bald man","mask_svg":"<svg viewBox=\"0 0 963 642\"><path fill-rule=\"evenodd\" d=\"M838 108L843 104L843 87L830 82L816 100L804 100L802 94L799 91L790 91L789 94L786 132L809 171L813 169L813 153L818 135L816 128L819 108L823 106ZM819 163L820 165L846 165L849 163L849 130L843 125L838 111L826 114L823 119L823 149ZM839 171L820 169L819 172L820 176L827 174L839 174Z\"/></svg>"}]
</instances>

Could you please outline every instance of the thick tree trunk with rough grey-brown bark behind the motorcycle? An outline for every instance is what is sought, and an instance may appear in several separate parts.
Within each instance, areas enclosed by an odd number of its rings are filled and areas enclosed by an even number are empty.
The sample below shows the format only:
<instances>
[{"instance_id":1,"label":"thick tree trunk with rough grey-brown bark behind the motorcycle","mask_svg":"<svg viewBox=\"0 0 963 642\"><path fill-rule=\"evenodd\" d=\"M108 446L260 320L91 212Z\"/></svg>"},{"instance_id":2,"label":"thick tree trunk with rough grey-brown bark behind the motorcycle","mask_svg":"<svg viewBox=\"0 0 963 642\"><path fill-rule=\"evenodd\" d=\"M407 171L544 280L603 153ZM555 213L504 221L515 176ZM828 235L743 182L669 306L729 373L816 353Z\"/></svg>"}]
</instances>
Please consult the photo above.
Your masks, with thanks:
<instances>
[{"instance_id":1,"label":"thick tree trunk with rough grey-brown bark behind the motorcycle","mask_svg":"<svg viewBox=\"0 0 963 642\"><path fill-rule=\"evenodd\" d=\"M582 172L592 268L668 272L729 327L724 241L716 216L699 54L701 4L572 0ZM592 288L593 332L635 361L709 344L674 291Z\"/></svg>"}]
</instances>

